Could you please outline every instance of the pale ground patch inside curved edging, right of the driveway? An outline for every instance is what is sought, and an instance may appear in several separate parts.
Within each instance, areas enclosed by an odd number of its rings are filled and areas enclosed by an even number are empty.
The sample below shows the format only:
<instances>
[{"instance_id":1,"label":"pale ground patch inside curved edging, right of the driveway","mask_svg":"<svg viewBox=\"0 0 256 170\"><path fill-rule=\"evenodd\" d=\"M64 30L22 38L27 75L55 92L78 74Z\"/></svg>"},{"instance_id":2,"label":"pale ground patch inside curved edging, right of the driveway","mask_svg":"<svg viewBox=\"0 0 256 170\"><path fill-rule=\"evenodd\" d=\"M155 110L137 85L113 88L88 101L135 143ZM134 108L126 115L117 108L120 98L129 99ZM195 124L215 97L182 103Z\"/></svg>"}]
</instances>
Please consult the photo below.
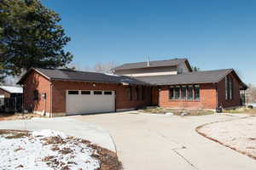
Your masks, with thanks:
<instances>
[{"instance_id":1,"label":"pale ground patch inside curved edging, right of the driveway","mask_svg":"<svg viewBox=\"0 0 256 170\"><path fill-rule=\"evenodd\" d=\"M207 137L218 140L247 156L256 158L256 117L208 124L198 129Z\"/></svg>"}]
</instances>

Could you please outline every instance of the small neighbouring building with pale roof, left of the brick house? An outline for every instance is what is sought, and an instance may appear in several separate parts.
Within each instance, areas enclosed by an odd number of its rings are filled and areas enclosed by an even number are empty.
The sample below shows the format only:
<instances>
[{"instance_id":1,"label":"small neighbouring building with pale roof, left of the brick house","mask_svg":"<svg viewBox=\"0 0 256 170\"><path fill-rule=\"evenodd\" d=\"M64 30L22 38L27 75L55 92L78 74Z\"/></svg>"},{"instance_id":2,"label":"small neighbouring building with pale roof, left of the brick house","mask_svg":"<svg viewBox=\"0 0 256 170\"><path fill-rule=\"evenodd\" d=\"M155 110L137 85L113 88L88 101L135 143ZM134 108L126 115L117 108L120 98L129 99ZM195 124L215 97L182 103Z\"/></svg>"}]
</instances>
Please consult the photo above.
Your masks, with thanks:
<instances>
[{"instance_id":1,"label":"small neighbouring building with pale roof, left of the brick house","mask_svg":"<svg viewBox=\"0 0 256 170\"><path fill-rule=\"evenodd\" d=\"M0 86L0 111L21 111L23 89L15 86Z\"/></svg>"}]
</instances>

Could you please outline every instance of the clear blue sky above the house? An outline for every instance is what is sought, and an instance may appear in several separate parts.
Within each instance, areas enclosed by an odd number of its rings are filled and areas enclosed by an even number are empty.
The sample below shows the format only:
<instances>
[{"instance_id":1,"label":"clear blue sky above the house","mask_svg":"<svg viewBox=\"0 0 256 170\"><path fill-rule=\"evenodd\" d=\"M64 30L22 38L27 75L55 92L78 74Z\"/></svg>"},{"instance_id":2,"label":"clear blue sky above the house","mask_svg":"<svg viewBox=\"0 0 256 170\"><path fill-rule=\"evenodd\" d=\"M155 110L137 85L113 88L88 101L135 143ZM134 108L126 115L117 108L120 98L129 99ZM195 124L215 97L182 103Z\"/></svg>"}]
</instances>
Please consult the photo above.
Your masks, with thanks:
<instances>
[{"instance_id":1,"label":"clear blue sky above the house","mask_svg":"<svg viewBox=\"0 0 256 170\"><path fill-rule=\"evenodd\" d=\"M80 67L188 58L201 70L234 68L256 84L254 0L43 0L61 14Z\"/></svg>"}]
</instances>

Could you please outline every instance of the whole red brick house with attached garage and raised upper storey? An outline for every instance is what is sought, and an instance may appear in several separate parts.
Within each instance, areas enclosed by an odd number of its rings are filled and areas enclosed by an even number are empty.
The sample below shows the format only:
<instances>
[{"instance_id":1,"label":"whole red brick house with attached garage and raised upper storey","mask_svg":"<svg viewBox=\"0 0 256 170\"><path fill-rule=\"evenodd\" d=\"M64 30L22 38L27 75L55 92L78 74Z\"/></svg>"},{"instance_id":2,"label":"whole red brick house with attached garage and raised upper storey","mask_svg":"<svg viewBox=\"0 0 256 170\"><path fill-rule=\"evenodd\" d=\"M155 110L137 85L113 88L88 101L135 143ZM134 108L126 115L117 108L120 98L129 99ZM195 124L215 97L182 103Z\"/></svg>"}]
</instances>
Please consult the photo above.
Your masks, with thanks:
<instances>
[{"instance_id":1,"label":"whole red brick house with attached garage and raised upper storey","mask_svg":"<svg viewBox=\"0 0 256 170\"><path fill-rule=\"evenodd\" d=\"M147 105L178 109L241 105L246 90L233 69L192 71L188 59L120 65L114 74L32 68L21 77L24 109L47 116L127 111Z\"/></svg>"}]
</instances>

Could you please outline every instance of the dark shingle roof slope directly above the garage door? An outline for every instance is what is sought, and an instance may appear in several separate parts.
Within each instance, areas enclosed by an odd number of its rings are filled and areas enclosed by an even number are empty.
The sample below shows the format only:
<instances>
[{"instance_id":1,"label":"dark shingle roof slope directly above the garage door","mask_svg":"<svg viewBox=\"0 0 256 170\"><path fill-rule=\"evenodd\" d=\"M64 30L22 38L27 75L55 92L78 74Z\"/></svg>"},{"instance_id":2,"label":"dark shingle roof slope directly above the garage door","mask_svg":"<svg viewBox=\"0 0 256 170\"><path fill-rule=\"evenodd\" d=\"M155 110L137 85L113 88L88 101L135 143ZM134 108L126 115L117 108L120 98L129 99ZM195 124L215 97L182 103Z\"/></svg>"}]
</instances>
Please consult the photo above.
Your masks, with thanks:
<instances>
[{"instance_id":1,"label":"dark shingle roof slope directly above the garage door","mask_svg":"<svg viewBox=\"0 0 256 170\"><path fill-rule=\"evenodd\" d=\"M85 82L109 82L109 83L129 83L129 84L147 84L133 77L110 75L96 72L70 71L61 69L35 69L49 79L73 80Z\"/></svg>"}]
</instances>

